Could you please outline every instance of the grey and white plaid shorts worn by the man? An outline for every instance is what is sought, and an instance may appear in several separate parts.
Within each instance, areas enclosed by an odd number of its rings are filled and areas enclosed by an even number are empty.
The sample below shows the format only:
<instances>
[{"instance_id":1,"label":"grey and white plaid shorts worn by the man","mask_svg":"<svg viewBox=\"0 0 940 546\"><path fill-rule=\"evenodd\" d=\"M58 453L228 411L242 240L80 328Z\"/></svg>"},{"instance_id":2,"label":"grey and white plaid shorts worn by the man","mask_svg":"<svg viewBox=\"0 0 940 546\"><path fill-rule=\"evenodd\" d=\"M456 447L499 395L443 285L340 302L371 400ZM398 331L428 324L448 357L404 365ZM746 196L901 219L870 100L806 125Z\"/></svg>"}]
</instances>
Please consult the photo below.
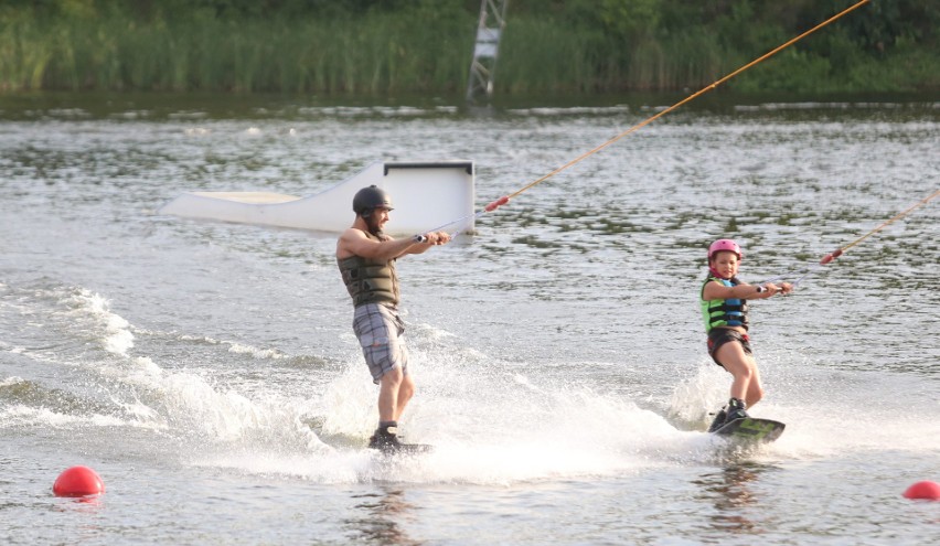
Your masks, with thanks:
<instances>
[{"instance_id":1,"label":"grey and white plaid shorts worn by the man","mask_svg":"<svg viewBox=\"0 0 940 546\"><path fill-rule=\"evenodd\" d=\"M383 375L398 366L408 374L408 347L405 346L405 323L394 307L366 303L355 308L353 330L362 345L362 355L376 385Z\"/></svg>"}]
</instances>

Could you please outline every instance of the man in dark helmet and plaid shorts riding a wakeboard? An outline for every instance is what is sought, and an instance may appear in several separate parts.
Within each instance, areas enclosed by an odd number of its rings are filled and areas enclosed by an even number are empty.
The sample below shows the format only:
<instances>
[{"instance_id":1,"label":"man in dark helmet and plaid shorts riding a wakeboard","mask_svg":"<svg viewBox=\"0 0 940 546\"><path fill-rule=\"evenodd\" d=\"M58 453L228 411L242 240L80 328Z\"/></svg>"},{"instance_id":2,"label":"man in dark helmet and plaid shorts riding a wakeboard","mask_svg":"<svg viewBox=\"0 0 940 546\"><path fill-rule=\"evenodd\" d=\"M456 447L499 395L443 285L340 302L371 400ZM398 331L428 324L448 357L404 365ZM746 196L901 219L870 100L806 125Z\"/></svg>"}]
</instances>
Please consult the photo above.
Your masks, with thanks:
<instances>
[{"instance_id":1,"label":"man in dark helmet and plaid shorts riding a wakeboard","mask_svg":"<svg viewBox=\"0 0 940 546\"><path fill-rule=\"evenodd\" d=\"M395 260L406 254L421 254L450 242L445 232L394 239L383 233L392 212L387 193L374 185L353 197L355 222L337 242L337 263L355 307L353 330L373 382L378 385L378 428L370 448L395 451L398 419L415 393L408 374L408 351L398 317L398 277Z\"/></svg>"}]
</instances>

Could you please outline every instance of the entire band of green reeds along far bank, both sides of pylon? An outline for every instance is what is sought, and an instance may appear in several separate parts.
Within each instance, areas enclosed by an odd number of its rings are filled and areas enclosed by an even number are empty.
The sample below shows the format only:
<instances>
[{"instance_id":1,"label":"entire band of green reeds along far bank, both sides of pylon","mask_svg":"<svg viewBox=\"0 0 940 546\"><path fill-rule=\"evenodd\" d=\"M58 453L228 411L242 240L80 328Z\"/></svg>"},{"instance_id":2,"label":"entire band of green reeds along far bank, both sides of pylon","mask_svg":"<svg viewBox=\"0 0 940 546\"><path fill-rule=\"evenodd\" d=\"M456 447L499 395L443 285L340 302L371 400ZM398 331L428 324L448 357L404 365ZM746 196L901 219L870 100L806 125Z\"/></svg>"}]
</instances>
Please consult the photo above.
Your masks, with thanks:
<instances>
[{"instance_id":1,"label":"entire band of green reeds along far bank, both sides of pylon","mask_svg":"<svg viewBox=\"0 0 940 546\"><path fill-rule=\"evenodd\" d=\"M456 94L466 86L474 34L476 18L460 10L419 19L203 17L150 24L117 12L96 19L0 12L0 89ZM755 93L938 85L940 60L916 47L904 52L914 64L864 57L836 32L826 40L826 56L793 47L728 85ZM495 81L506 95L701 88L760 53L736 51L705 29L630 43L536 17L514 19L500 46Z\"/></svg>"}]
</instances>

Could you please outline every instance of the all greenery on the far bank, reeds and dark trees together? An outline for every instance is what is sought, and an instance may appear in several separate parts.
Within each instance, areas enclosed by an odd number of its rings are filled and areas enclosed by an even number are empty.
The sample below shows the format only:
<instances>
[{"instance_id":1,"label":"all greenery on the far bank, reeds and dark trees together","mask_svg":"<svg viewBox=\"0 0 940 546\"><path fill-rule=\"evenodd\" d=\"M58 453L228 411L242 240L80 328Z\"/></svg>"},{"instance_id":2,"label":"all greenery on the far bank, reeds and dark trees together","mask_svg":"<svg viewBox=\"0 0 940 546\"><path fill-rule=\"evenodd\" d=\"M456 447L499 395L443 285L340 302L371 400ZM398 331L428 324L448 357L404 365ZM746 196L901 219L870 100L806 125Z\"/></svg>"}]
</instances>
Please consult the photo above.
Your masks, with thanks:
<instances>
[{"instance_id":1,"label":"all greenery on the far bank, reeds and dark trees together","mask_svg":"<svg viewBox=\"0 0 940 546\"><path fill-rule=\"evenodd\" d=\"M498 96L699 89L854 0L510 0ZM786 6L783 6L786 4ZM6 0L0 93L463 93L479 0ZM940 89L940 4L873 0L736 94Z\"/></svg>"}]
</instances>

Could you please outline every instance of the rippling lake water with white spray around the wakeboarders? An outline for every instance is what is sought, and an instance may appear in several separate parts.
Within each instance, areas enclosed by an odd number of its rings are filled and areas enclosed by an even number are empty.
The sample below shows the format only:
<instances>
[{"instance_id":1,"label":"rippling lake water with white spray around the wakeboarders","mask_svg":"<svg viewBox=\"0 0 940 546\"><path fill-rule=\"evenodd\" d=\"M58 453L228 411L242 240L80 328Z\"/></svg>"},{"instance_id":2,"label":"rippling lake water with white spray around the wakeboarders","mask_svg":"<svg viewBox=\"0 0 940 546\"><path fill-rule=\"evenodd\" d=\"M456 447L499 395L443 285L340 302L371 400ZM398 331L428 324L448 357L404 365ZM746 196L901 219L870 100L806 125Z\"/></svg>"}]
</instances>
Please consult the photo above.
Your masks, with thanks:
<instances>
[{"instance_id":1,"label":"rippling lake water with white spray around the wakeboarders","mask_svg":"<svg viewBox=\"0 0 940 546\"><path fill-rule=\"evenodd\" d=\"M418 386L403 429L437 449L389 462L363 449L376 390L335 235L156 211L451 158L476 161L482 206L658 105L158 100L0 111L3 543L940 538L940 504L901 497L940 480L937 202L754 304L752 414L788 424L772 445L702 432L729 376L697 311L714 238L740 242L759 281L936 191L936 103L687 108L402 260ZM53 496L75 464L107 492Z\"/></svg>"}]
</instances>

